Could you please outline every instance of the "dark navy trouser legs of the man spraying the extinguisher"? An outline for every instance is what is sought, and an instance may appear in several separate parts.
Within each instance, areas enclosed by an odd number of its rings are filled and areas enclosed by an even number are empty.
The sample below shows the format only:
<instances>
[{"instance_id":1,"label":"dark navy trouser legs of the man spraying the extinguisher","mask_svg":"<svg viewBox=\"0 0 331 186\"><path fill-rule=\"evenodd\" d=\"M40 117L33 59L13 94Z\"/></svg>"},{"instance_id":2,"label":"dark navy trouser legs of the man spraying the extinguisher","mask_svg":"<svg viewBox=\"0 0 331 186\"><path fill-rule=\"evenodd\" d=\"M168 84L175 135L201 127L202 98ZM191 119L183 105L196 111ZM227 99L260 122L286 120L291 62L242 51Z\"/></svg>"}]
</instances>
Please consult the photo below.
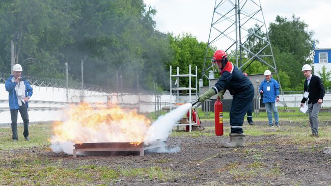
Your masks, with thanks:
<instances>
[{"instance_id":1,"label":"dark navy trouser legs of the man spraying the extinguisher","mask_svg":"<svg viewBox=\"0 0 331 186\"><path fill-rule=\"evenodd\" d=\"M245 87L240 93L233 95L230 110L231 133L242 134L242 123L254 97L254 86Z\"/></svg>"}]
</instances>

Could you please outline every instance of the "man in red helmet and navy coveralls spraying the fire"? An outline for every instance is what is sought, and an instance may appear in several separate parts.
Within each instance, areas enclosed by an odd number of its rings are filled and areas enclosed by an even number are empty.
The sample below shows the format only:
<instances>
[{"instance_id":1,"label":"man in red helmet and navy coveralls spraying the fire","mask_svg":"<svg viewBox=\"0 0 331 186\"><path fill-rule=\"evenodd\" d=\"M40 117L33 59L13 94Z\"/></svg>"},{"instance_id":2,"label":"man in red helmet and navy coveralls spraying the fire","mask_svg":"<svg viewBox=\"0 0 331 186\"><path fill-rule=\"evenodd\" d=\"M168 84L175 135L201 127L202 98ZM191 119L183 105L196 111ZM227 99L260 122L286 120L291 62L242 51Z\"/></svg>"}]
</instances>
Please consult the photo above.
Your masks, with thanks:
<instances>
[{"instance_id":1,"label":"man in red helmet and navy coveralls spraying the fire","mask_svg":"<svg viewBox=\"0 0 331 186\"><path fill-rule=\"evenodd\" d=\"M254 97L254 87L249 78L247 78L233 63L228 61L224 50L216 50L212 59L212 65L217 65L219 77L215 86L202 94L198 99L205 101L211 96L218 94L224 89L229 90L233 96L230 110L230 141L222 144L223 147L234 148L245 146L242 124L247 110Z\"/></svg>"}]
</instances>

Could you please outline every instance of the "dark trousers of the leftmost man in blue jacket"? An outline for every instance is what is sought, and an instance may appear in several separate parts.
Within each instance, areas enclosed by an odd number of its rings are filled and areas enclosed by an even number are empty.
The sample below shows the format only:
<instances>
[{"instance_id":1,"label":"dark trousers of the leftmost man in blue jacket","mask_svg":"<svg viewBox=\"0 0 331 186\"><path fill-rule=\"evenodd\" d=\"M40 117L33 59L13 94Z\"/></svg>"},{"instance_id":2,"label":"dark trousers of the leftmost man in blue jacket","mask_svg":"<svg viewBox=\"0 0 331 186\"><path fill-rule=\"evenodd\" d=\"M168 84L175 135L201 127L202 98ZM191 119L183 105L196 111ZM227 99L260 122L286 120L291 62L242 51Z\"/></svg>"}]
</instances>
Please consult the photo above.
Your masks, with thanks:
<instances>
[{"instance_id":1,"label":"dark trousers of the leftmost man in blue jacket","mask_svg":"<svg viewBox=\"0 0 331 186\"><path fill-rule=\"evenodd\" d=\"M28 137L29 136L29 115L27 114L27 108L24 103L22 103L22 106L19 107L19 109L12 109L10 110L10 116L12 118L12 132L13 132L13 140L18 139L17 137L17 113L21 114L21 117L23 119L23 136Z\"/></svg>"}]
</instances>

